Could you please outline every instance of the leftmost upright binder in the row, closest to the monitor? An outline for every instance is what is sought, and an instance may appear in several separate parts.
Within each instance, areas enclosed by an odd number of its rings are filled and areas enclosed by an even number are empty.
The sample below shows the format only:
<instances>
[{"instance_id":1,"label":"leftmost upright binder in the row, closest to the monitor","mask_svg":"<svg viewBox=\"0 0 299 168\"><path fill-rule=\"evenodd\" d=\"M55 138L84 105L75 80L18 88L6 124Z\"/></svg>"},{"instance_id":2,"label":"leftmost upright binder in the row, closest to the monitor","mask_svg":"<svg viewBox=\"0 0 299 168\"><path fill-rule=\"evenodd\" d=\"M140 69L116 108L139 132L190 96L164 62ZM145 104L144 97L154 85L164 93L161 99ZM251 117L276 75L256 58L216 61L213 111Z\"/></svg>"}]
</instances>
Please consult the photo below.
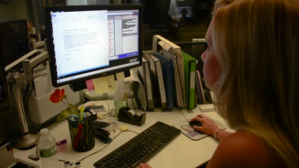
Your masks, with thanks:
<instances>
[{"instance_id":1,"label":"leftmost upright binder in the row, closest to the monitor","mask_svg":"<svg viewBox=\"0 0 299 168\"><path fill-rule=\"evenodd\" d=\"M146 109L154 110L153 87L149 74L149 62L142 57L142 66L138 67L138 77L140 78L146 95Z\"/></svg>"}]
</instances>

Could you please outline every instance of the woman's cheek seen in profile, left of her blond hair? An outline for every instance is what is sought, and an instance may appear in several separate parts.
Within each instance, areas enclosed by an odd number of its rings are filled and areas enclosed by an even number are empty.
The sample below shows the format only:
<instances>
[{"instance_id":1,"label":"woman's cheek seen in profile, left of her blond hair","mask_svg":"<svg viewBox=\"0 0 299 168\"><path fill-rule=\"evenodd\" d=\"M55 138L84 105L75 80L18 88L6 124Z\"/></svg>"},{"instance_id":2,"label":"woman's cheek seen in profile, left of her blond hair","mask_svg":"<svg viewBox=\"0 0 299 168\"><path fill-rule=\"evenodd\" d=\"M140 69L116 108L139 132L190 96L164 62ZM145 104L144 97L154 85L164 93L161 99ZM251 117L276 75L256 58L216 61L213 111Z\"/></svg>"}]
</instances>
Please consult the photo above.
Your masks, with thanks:
<instances>
[{"instance_id":1,"label":"woman's cheek seen in profile, left of her blond hair","mask_svg":"<svg viewBox=\"0 0 299 168\"><path fill-rule=\"evenodd\" d=\"M205 57L204 78L206 87L211 89L220 76L220 65L214 54Z\"/></svg>"}]
</instances>

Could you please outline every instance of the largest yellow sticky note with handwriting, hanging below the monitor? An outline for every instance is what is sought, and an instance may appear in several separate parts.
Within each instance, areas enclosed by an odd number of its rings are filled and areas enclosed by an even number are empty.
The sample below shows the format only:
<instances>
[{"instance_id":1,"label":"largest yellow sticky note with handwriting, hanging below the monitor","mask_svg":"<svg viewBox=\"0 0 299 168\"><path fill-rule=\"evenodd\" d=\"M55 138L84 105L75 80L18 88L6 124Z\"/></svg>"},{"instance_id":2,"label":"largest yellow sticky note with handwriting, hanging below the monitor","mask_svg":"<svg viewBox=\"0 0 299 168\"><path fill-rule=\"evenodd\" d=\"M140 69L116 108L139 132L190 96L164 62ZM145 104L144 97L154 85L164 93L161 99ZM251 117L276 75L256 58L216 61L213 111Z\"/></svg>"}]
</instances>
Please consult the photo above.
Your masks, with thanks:
<instances>
[{"instance_id":1,"label":"largest yellow sticky note with handwriting, hanging below the monitor","mask_svg":"<svg viewBox=\"0 0 299 168\"><path fill-rule=\"evenodd\" d=\"M93 79L92 83L97 94L106 93L115 89L114 75Z\"/></svg>"}]
</instances>

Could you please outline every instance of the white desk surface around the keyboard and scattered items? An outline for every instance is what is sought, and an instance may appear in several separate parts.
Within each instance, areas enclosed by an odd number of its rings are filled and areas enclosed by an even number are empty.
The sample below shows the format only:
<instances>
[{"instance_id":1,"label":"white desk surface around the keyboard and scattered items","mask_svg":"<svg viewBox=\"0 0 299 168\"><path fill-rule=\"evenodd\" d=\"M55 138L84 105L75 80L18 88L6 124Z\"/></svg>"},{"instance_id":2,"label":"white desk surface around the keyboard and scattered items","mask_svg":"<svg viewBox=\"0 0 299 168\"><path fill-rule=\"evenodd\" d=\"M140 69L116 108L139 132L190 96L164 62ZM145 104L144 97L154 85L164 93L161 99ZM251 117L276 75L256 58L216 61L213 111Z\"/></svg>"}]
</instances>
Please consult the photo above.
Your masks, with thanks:
<instances>
[{"instance_id":1,"label":"white desk surface around the keyboard and scattered items","mask_svg":"<svg viewBox=\"0 0 299 168\"><path fill-rule=\"evenodd\" d=\"M103 101L104 102L104 101ZM110 105L111 103L109 103ZM186 118L190 119L200 114L199 108L195 108L193 110L186 111L182 109L183 114ZM204 115L224 123L223 119L217 115L216 112L203 112ZM157 121L162 121L169 125L172 125L178 121L184 121L184 117L178 108L174 108L172 111L159 111L159 112L146 112L146 120L143 125L137 126L132 125L125 122L118 121L117 117L110 116L110 121L115 121L119 125L127 125L130 130L135 131L137 133L141 133L143 130L150 127L152 124ZM108 121L108 118L103 119L102 121ZM58 154L58 158L62 160L68 160L71 162L76 162L85 156L94 153L101 148L103 148L106 144L102 143L98 139L95 139L95 146L92 150L87 152L76 152L72 150L70 135L68 131L67 121L56 122L50 127L48 127L50 134L52 134L56 141L67 140L67 153ZM228 131L232 131L227 129ZM114 138L116 135L120 133L120 129L118 129L115 133L111 132L110 138ZM100 158L104 157L106 154L115 150L125 142L129 141L137 134L133 132L123 132L121 133L113 142L111 142L105 149L100 152L93 154L86 159L82 160L82 167L93 167L93 163L98 161ZM198 141L193 141L186 137L183 134L180 134L173 141L171 141L167 146L165 146L160 152L158 152L155 156L147 161L152 167L196 167L206 161L208 161L213 152L215 151L218 142L214 140L213 137L209 136L203 138ZM19 149L14 149L15 158L20 158L22 160L31 162L36 165L40 165L42 167L41 159L38 161L33 161L28 159L29 154L35 154L36 147L30 150L22 151ZM63 167L63 162L61 162L61 167Z\"/></svg>"}]
</instances>

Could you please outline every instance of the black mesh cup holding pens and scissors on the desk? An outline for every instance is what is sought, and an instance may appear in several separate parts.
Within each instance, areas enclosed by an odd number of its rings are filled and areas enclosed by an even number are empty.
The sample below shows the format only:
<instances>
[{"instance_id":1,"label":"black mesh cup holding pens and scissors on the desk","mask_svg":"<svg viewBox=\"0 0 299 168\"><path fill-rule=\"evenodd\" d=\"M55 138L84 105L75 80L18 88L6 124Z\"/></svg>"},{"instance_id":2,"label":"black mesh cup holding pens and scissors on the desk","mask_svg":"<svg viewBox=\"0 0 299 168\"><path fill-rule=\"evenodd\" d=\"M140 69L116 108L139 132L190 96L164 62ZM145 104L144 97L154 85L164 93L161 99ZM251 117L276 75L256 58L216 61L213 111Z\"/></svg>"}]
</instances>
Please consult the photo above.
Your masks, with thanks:
<instances>
[{"instance_id":1,"label":"black mesh cup holding pens and scissors on the desk","mask_svg":"<svg viewBox=\"0 0 299 168\"><path fill-rule=\"evenodd\" d=\"M86 152L95 145L92 117L83 121L68 120L68 128L72 149L77 152Z\"/></svg>"}]
</instances>

